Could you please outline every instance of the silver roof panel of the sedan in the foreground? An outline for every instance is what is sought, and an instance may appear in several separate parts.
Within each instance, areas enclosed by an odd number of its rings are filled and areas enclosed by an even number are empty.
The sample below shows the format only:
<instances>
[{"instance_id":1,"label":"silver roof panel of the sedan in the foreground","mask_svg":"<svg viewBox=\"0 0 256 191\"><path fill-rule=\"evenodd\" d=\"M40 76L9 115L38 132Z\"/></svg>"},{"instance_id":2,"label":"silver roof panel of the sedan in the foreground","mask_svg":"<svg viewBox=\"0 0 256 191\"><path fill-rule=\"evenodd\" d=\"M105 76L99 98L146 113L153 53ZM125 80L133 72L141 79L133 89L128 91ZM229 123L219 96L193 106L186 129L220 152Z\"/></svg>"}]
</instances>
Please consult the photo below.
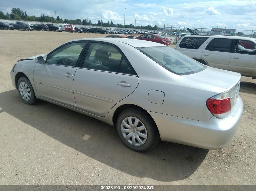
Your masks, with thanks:
<instances>
[{"instance_id":1,"label":"silver roof panel of the sedan in the foreground","mask_svg":"<svg viewBox=\"0 0 256 191\"><path fill-rule=\"evenodd\" d=\"M68 42L75 42L79 40L94 40L94 41L101 41L101 42L107 42L107 43L113 43L115 44L115 41L128 44L130 46L133 46L135 48L139 47L155 47L155 46L166 46L164 44L155 43L147 40L136 40L136 39L128 39L128 38L84 38L84 39L75 39ZM116 43L118 44L118 43Z\"/></svg>"}]
</instances>

